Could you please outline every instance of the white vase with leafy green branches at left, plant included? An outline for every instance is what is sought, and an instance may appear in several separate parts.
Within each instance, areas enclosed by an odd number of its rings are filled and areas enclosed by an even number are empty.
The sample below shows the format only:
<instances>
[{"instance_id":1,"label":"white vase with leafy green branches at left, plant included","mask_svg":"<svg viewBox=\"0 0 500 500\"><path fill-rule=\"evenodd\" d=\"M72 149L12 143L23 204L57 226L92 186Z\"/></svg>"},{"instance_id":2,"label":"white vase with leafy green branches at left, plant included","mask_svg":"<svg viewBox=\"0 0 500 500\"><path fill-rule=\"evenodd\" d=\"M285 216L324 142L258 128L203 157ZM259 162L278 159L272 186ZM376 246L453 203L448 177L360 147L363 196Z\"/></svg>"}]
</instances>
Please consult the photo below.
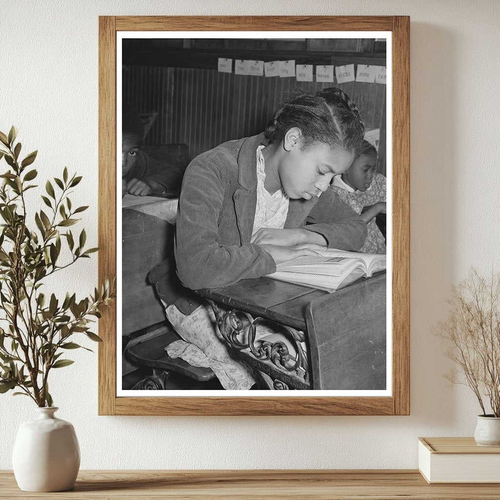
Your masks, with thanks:
<instances>
[{"instance_id":1,"label":"white vase with leafy green branches at left, plant included","mask_svg":"<svg viewBox=\"0 0 500 500\"><path fill-rule=\"evenodd\" d=\"M85 230L71 226L87 206L73 206L69 195L81 180L64 168L60 178L47 180L41 200L46 207L31 210L26 192L36 188L37 171L30 165L36 151L20 159L21 144L12 127L0 132L0 393L31 398L38 419L19 427L12 463L17 483L28 491L61 491L73 486L79 468L79 448L73 426L54 416L49 374L74 361L64 354L86 349L78 337L99 342L91 331L99 308L114 297L109 280L87 297L46 292L44 281L97 248L85 247ZM32 202L31 202L32 204Z\"/></svg>"}]
</instances>

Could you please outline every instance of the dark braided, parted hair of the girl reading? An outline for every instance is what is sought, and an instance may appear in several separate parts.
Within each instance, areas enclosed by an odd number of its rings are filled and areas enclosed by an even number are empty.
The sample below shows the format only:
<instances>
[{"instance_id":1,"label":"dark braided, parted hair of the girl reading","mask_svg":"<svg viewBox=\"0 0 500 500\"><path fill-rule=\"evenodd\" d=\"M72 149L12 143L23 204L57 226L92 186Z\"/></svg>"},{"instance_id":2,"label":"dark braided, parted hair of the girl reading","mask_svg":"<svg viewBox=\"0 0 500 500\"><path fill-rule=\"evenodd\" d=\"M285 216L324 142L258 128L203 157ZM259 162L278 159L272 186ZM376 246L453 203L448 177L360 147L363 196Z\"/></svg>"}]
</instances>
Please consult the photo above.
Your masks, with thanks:
<instances>
[{"instance_id":1,"label":"dark braided, parted hair of the girl reading","mask_svg":"<svg viewBox=\"0 0 500 500\"><path fill-rule=\"evenodd\" d=\"M303 147L323 143L356 155L362 149L364 123L359 110L337 87L296 93L267 122L265 138L277 142L292 127L300 128Z\"/></svg>"}]
</instances>

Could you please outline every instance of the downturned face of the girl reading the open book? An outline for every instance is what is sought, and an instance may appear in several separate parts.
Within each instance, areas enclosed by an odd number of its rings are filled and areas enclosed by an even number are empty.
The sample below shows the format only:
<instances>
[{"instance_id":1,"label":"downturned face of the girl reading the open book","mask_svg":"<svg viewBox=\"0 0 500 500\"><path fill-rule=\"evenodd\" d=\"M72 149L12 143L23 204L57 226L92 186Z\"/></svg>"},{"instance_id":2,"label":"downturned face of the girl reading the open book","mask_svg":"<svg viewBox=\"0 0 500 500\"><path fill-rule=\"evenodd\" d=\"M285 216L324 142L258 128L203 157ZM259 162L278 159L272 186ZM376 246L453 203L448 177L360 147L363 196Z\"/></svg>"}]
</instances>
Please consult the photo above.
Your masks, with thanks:
<instances>
[{"instance_id":1,"label":"downturned face of the girl reading the open book","mask_svg":"<svg viewBox=\"0 0 500 500\"><path fill-rule=\"evenodd\" d=\"M342 173L352 163L354 153L330 149L326 144L311 144L305 149L301 138L291 148L279 167L279 179L291 199L310 199L328 189L334 175Z\"/></svg>"}]
</instances>

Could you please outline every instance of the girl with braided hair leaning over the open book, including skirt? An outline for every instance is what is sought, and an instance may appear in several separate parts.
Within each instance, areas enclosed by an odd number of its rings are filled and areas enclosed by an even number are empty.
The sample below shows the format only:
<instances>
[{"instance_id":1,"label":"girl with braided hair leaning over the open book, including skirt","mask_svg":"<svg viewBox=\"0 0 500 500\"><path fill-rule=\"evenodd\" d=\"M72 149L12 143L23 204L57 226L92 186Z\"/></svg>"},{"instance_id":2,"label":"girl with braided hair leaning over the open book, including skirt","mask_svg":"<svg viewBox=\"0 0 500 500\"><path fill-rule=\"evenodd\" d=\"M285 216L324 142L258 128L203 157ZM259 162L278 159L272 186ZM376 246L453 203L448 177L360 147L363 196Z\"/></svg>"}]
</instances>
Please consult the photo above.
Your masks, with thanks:
<instances>
[{"instance_id":1,"label":"girl with braided hair leaning over the open book, including skirt","mask_svg":"<svg viewBox=\"0 0 500 500\"><path fill-rule=\"evenodd\" d=\"M315 249L357 250L364 221L329 188L360 152L364 125L339 88L300 93L283 103L259 135L230 140L195 157L184 174L176 218L177 275L192 290L216 288L276 270ZM210 366L226 389L254 378L218 338L213 313L169 321L184 339L171 357Z\"/></svg>"}]
</instances>

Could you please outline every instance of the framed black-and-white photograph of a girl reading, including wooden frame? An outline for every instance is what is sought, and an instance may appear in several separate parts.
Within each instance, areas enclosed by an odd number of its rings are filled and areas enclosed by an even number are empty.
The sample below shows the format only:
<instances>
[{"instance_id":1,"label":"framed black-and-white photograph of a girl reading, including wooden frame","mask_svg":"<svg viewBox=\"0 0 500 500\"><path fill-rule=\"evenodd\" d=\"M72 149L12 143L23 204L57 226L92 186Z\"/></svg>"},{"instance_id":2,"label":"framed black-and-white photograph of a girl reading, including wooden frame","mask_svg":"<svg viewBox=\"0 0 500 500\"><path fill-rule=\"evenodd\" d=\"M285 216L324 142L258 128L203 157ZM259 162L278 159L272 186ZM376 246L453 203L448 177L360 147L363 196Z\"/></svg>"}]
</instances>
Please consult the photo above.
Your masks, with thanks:
<instances>
[{"instance_id":1,"label":"framed black-and-white photograph of a girl reading, including wooden frame","mask_svg":"<svg viewBox=\"0 0 500 500\"><path fill-rule=\"evenodd\" d=\"M99 414L409 414L409 17L99 17L98 234Z\"/></svg>"}]
</instances>

